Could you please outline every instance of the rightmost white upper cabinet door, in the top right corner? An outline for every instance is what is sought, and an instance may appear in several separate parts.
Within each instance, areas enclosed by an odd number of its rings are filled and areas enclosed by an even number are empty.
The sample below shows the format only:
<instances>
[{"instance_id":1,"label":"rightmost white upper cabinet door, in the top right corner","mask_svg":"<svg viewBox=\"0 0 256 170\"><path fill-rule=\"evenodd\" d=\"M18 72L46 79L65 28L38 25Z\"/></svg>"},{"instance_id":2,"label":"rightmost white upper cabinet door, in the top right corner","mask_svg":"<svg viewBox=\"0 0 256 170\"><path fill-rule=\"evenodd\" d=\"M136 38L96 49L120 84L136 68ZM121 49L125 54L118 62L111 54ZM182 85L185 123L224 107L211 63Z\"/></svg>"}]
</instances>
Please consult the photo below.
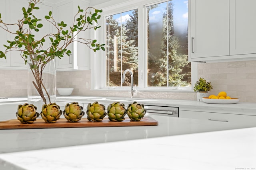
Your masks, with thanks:
<instances>
[{"instance_id":1,"label":"rightmost white upper cabinet door, in the top right corner","mask_svg":"<svg viewBox=\"0 0 256 170\"><path fill-rule=\"evenodd\" d=\"M230 55L256 53L256 0L230 1Z\"/></svg>"}]
</instances>

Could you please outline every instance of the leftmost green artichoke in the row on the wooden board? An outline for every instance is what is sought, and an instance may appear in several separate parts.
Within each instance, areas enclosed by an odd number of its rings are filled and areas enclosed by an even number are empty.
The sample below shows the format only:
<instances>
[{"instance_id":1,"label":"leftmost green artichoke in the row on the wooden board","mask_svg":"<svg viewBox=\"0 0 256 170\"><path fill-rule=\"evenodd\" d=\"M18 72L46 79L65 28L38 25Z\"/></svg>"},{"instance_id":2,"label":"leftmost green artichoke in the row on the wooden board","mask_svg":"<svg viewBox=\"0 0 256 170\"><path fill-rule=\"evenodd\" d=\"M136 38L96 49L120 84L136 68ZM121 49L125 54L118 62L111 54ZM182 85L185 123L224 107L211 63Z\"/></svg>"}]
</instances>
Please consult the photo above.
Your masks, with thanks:
<instances>
[{"instance_id":1,"label":"leftmost green artichoke in the row on the wooden board","mask_svg":"<svg viewBox=\"0 0 256 170\"><path fill-rule=\"evenodd\" d=\"M37 107L33 104L19 105L16 116L21 123L33 123L36 121L36 117L39 116L39 113L36 112Z\"/></svg>"}]
</instances>

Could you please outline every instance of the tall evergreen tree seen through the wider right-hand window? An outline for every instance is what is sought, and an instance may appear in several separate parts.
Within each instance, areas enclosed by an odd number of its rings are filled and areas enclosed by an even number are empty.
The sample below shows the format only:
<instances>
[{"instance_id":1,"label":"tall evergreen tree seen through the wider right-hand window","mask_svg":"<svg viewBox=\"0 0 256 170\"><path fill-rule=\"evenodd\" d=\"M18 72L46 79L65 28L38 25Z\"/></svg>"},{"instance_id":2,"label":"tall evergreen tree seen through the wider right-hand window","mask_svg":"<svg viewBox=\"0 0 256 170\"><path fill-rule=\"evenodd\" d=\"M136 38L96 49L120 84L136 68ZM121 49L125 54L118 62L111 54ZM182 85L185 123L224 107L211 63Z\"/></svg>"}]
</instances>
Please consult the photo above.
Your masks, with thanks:
<instances>
[{"instance_id":1,"label":"tall evergreen tree seen through the wider right-hand window","mask_svg":"<svg viewBox=\"0 0 256 170\"><path fill-rule=\"evenodd\" d=\"M167 77L168 86L187 86L189 84L187 81L184 81L184 76L188 75L186 72L182 72L182 70L188 66L188 52L185 50L185 53L184 51L180 53L181 45L178 37L174 35L173 5L171 1L168 2L167 9L163 13L163 34L162 42L158 49L159 55L156 55L156 49L152 50L152 46L149 45L151 49L148 50L148 68L150 68L148 86L167 86ZM151 51L154 51L154 53Z\"/></svg>"}]
</instances>

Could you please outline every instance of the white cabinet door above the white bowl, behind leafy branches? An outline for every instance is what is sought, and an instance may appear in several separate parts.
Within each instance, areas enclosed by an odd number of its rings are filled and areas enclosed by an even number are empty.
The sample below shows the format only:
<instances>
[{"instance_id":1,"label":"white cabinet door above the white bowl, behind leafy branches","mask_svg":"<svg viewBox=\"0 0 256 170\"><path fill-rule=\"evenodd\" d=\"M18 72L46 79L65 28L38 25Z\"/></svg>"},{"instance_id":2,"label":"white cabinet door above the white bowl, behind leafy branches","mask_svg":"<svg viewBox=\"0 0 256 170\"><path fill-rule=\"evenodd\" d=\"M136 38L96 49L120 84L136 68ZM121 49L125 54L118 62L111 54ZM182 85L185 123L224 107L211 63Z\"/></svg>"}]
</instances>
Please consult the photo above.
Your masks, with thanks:
<instances>
[{"instance_id":1,"label":"white cabinet door above the white bowl, behind leafy branches","mask_svg":"<svg viewBox=\"0 0 256 170\"><path fill-rule=\"evenodd\" d=\"M64 28L65 30L70 30L70 26L73 23L73 7L72 7L72 2L62 4L60 6L56 7L56 15L57 15L57 21L61 22L64 21L64 23L67 24L67 27ZM73 61L73 56L74 56L74 51L73 51L73 44L70 44L68 46L68 49L72 52L71 56L68 57L67 55L64 55L62 59L57 58L56 59L56 68L72 68L74 62Z\"/></svg>"}]
</instances>

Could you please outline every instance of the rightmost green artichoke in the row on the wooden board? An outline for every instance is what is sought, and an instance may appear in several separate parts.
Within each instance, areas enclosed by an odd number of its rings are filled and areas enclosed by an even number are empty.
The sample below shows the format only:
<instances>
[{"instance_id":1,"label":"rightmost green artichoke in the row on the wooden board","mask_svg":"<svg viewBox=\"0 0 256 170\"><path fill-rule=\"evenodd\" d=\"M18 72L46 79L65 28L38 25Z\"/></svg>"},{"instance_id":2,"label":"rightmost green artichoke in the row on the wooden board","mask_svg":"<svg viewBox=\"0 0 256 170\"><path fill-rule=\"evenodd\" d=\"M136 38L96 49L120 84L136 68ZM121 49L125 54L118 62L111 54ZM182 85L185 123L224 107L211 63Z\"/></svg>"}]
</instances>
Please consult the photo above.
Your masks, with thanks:
<instances>
[{"instance_id":1,"label":"rightmost green artichoke in the row on the wooden board","mask_svg":"<svg viewBox=\"0 0 256 170\"><path fill-rule=\"evenodd\" d=\"M140 121L145 114L144 104L133 102L127 107L127 115L132 121Z\"/></svg>"}]
</instances>

